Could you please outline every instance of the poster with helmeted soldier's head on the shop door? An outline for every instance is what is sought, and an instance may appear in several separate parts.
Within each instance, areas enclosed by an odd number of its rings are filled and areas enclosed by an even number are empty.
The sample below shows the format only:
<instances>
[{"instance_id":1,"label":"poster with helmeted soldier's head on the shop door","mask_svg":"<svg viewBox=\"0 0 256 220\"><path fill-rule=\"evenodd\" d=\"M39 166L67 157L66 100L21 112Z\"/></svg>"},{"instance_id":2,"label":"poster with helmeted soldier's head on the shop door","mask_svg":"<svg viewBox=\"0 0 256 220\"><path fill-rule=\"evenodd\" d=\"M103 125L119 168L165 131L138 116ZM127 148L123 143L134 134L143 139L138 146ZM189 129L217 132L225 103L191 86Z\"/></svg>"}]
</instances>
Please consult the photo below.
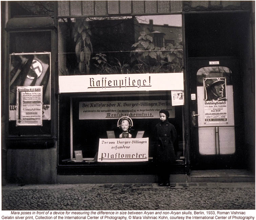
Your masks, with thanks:
<instances>
[{"instance_id":1,"label":"poster with helmeted soldier's head on the shop door","mask_svg":"<svg viewBox=\"0 0 256 220\"><path fill-rule=\"evenodd\" d=\"M205 123L227 123L226 78L204 78Z\"/></svg>"}]
</instances>

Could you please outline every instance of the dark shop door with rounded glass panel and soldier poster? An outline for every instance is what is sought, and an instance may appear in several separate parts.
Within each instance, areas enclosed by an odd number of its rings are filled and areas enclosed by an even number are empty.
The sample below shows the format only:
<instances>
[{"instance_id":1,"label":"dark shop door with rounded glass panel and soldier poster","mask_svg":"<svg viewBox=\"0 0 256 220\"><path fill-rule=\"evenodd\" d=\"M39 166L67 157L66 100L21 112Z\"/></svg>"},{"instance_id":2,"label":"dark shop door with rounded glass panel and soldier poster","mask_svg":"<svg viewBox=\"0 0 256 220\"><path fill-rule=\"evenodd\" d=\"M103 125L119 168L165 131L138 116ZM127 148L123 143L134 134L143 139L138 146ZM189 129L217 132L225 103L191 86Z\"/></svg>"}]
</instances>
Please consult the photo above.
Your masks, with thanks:
<instances>
[{"instance_id":1,"label":"dark shop door with rounded glass panel and soldier poster","mask_svg":"<svg viewBox=\"0 0 256 220\"><path fill-rule=\"evenodd\" d=\"M238 60L189 59L191 169L241 169L243 95Z\"/></svg>"}]
</instances>

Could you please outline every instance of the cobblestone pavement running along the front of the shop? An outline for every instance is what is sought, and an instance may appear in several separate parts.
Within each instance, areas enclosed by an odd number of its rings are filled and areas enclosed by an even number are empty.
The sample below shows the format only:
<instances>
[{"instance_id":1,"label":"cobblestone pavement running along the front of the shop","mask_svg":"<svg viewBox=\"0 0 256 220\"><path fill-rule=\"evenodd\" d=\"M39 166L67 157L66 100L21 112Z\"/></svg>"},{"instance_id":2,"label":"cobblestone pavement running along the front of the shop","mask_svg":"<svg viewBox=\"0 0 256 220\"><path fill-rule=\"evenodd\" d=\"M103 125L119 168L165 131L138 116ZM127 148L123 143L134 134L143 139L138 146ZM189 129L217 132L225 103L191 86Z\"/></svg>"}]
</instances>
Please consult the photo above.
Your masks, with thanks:
<instances>
[{"instance_id":1,"label":"cobblestone pavement running along the front of the shop","mask_svg":"<svg viewBox=\"0 0 256 220\"><path fill-rule=\"evenodd\" d=\"M2 186L2 210L255 210L255 183Z\"/></svg>"}]
</instances>

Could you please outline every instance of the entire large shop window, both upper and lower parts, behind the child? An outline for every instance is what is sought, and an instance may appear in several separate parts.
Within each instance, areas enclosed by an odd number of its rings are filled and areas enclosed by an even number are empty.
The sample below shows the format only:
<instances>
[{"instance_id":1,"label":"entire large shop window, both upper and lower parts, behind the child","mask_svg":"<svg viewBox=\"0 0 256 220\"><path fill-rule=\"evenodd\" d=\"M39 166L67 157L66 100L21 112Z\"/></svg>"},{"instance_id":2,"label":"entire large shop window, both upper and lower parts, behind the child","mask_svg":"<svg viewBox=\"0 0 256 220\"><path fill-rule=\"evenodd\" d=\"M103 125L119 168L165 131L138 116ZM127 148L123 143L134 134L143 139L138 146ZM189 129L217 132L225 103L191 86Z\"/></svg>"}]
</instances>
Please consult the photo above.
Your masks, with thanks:
<instances>
[{"instance_id":1,"label":"entire large shop window, both upper and lower parts, behind the child","mask_svg":"<svg viewBox=\"0 0 256 220\"><path fill-rule=\"evenodd\" d=\"M177 130L177 162L185 163L181 19L168 15L59 20L61 164L75 160L75 151L82 152L84 162L92 160L99 139L108 138L107 131L120 137L117 123L124 115L133 120L132 138L143 131L143 138L149 139L152 160L161 109L169 111ZM154 73L159 73L157 88L152 85ZM182 86L175 89L178 78Z\"/></svg>"}]
</instances>

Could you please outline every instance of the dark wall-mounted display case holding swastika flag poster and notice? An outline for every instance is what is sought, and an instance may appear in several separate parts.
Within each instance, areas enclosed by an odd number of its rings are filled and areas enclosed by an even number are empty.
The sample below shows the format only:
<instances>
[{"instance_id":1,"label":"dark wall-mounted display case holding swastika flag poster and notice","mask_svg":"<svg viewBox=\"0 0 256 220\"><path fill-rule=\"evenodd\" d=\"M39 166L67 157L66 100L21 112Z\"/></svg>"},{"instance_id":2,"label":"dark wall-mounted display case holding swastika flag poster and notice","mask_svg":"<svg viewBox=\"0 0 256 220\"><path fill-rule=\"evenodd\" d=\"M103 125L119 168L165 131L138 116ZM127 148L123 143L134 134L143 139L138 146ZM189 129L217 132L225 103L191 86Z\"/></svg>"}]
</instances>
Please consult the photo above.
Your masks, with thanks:
<instances>
[{"instance_id":1,"label":"dark wall-mounted display case holding swastika flag poster and notice","mask_svg":"<svg viewBox=\"0 0 256 220\"><path fill-rule=\"evenodd\" d=\"M54 20L50 17L12 18L6 24L9 47L7 48L8 65L6 68L6 131L7 145L12 148L22 146L28 148L53 146L57 131L57 102L55 91L57 89L56 77L56 28ZM23 123L17 121L17 88L35 90L42 88L42 109L37 112L42 123ZM34 92L35 93L35 92ZM33 101L31 93L27 119L32 120ZM26 95L28 97L28 94ZM28 116L29 115L29 116ZM38 117L38 118L40 118ZM31 144L33 143L33 144Z\"/></svg>"}]
</instances>

